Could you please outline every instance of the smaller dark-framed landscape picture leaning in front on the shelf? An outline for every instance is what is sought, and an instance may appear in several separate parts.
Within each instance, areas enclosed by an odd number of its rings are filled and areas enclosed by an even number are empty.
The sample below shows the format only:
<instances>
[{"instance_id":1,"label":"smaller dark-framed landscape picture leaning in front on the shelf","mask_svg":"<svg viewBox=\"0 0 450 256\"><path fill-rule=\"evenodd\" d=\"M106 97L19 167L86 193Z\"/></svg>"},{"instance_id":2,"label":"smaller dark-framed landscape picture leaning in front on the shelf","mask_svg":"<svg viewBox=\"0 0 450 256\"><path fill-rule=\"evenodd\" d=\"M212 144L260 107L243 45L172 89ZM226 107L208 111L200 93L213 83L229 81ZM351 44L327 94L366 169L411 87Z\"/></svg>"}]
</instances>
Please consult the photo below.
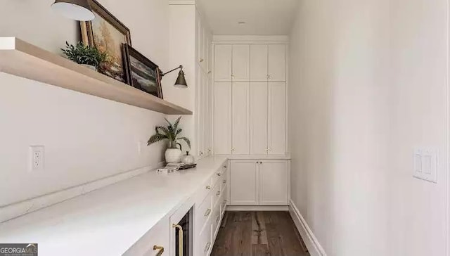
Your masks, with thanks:
<instances>
[{"instance_id":1,"label":"smaller dark-framed landscape picture leaning in front on the shelf","mask_svg":"<svg viewBox=\"0 0 450 256\"><path fill-rule=\"evenodd\" d=\"M128 44L122 44L127 84L162 98L161 74L158 65Z\"/></svg>"}]
</instances>

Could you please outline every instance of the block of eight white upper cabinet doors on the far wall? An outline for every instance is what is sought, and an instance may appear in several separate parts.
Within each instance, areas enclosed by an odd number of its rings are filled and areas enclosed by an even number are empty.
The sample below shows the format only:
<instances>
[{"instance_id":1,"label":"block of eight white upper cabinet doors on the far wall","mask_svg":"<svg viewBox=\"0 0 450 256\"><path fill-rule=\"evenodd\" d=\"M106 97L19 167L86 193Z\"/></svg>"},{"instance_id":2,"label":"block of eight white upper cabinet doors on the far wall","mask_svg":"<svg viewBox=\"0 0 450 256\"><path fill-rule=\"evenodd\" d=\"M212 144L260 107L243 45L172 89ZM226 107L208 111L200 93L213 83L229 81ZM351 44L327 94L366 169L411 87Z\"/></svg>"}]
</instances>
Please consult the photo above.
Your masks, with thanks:
<instances>
[{"instance_id":1,"label":"block of eight white upper cabinet doors on the far wall","mask_svg":"<svg viewBox=\"0 0 450 256\"><path fill-rule=\"evenodd\" d=\"M285 154L285 44L214 46L214 153Z\"/></svg>"}]
</instances>

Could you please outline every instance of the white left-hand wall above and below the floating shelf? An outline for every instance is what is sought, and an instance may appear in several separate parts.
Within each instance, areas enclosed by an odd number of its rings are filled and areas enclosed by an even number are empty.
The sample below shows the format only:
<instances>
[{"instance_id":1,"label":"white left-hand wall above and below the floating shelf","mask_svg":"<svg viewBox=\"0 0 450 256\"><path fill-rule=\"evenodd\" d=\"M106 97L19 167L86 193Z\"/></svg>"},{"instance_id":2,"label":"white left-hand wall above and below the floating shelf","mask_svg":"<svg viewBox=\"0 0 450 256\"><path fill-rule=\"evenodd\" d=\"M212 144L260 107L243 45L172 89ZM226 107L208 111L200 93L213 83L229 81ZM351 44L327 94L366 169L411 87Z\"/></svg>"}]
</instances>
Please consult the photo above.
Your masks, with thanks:
<instances>
[{"instance_id":1,"label":"white left-hand wall above and below the floating shelf","mask_svg":"<svg viewBox=\"0 0 450 256\"><path fill-rule=\"evenodd\" d=\"M129 27L136 49L162 70L172 68L167 0L100 2ZM53 13L52 3L1 0L0 37L60 53L66 40L78 40L79 31L75 21ZM163 88L172 83L163 80ZM160 113L4 73L0 84L0 206L163 160L162 143L146 147L155 124L165 122ZM46 147L42 172L27 170L30 145Z\"/></svg>"}]
</instances>

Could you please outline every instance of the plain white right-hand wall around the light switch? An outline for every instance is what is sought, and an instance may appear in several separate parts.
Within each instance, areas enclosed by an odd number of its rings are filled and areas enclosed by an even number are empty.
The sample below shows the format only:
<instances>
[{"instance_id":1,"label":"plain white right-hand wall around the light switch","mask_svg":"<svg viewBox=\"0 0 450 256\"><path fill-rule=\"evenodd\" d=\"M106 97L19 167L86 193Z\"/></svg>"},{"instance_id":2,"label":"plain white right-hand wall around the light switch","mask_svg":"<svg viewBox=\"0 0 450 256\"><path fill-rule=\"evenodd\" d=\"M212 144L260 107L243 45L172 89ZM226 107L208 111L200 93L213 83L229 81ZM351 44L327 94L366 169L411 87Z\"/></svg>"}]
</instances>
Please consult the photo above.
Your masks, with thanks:
<instances>
[{"instance_id":1,"label":"plain white right-hand wall around the light switch","mask_svg":"<svg viewBox=\"0 0 450 256\"><path fill-rule=\"evenodd\" d=\"M444 255L446 1L300 1L292 199L327 255ZM293 82L297 83L294 84ZM439 183L412 177L439 149Z\"/></svg>"}]
</instances>

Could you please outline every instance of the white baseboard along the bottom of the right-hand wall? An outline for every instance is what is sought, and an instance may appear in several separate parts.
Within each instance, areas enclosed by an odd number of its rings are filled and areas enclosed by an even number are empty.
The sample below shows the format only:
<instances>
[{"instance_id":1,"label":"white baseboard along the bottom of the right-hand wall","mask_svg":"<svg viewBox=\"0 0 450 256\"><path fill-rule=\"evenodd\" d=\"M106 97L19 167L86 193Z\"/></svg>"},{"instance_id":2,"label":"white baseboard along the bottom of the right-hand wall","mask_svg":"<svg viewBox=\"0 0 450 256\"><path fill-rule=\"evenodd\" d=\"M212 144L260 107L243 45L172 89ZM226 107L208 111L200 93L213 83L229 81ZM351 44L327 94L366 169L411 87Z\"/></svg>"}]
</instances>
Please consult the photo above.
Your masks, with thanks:
<instances>
[{"instance_id":1,"label":"white baseboard along the bottom of the right-hand wall","mask_svg":"<svg viewBox=\"0 0 450 256\"><path fill-rule=\"evenodd\" d=\"M290 200L289 213L294 220L295 226L297 226L300 236L303 238L304 244L307 245L309 255L326 256L325 250L323 250L319 241L317 241L316 236L314 236L314 233L309 229L307 222L304 220L302 214L300 214L300 211L292 200Z\"/></svg>"}]
</instances>

